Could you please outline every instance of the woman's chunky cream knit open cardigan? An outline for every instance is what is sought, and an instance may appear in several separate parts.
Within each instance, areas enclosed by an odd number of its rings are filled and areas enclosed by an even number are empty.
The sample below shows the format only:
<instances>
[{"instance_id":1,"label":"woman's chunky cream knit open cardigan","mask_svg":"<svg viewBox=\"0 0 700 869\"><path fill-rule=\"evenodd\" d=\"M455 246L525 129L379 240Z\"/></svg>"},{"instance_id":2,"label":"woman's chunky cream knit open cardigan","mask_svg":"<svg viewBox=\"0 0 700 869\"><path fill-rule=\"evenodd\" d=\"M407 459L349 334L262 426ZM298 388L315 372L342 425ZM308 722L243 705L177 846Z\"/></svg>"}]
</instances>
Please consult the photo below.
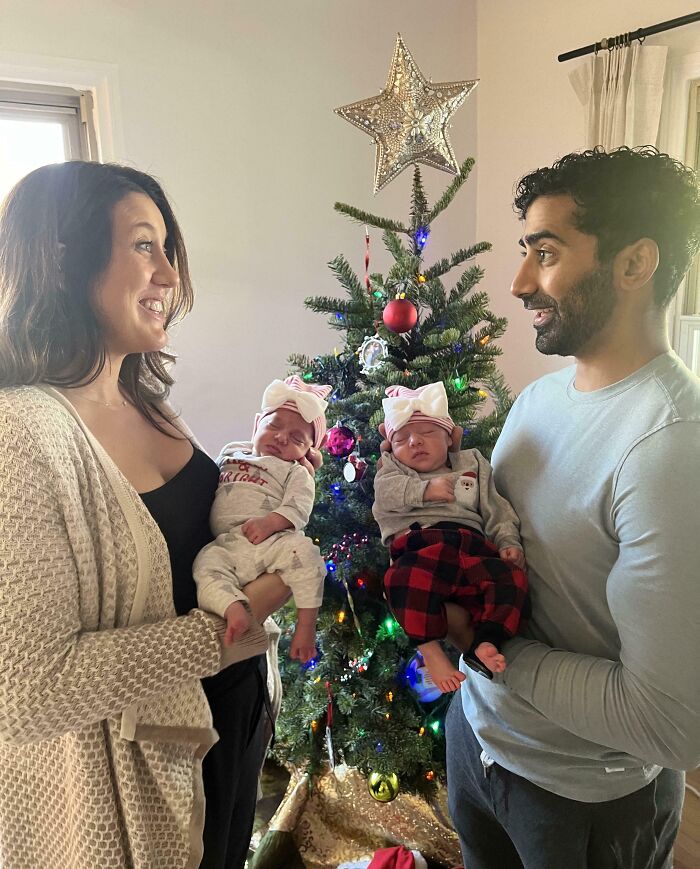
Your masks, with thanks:
<instances>
[{"instance_id":1,"label":"woman's chunky cream knit open cardigan","mask_svg":"<svg viewBox=\"0 0 700 869\"><path fill-rule=\"evenodd\" d=\"M0 390L2 869L199 866L222 625L176 616L165 541L70 403Z\"/></svg>"}]
</instances>

